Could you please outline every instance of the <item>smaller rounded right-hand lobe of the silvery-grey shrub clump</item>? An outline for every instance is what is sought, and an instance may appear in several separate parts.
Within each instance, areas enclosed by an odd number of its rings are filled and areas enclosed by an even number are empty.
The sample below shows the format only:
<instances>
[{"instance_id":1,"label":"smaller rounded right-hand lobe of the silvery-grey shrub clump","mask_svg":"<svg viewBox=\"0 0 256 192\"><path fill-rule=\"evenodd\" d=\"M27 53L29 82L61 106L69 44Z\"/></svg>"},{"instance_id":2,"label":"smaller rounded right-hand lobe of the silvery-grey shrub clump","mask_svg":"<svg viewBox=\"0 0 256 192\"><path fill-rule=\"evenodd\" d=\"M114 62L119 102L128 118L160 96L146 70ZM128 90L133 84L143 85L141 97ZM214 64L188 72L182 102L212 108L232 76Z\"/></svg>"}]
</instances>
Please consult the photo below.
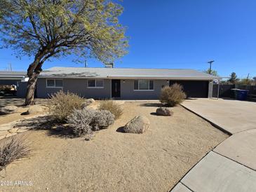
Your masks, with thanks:
<instances>
[{"instance_id":1,"label":"smaller rounded right-hand lobe of the silvery-grey shrub clump","mask_svg":"<svg viewBox=\"0 0 256 192\"><path fill-rule=\"evenodd\" d=\"M93 126L93 130L105 129L109 125L114 123L114 115L107 110L95 111L93 121L91 125Z\"/></svg>"}]
</instances>

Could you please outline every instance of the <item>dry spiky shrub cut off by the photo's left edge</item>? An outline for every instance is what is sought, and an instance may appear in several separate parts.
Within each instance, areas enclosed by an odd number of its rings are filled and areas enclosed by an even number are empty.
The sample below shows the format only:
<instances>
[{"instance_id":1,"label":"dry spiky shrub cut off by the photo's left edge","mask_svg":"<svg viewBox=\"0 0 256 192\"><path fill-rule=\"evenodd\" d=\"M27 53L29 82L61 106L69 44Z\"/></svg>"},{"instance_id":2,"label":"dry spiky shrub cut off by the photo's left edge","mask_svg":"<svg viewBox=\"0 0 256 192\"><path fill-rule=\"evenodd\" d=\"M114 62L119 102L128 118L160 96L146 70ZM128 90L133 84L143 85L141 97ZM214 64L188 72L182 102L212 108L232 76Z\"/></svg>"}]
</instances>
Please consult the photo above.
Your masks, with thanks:
<instances>
[{"instance_id":1,"label":"dry spiky shrub cut off by the photo's left edge","mask_svg":"<svg viewBox=\"0 0 256 192\"><path fill-rule=\"evenodd\" d=\"M0 171L3 170L9 163L20 158L29 156L31 149L25 144L24 139L11 137L1 140L0 143Z\"/></svg>"}]
</instances>

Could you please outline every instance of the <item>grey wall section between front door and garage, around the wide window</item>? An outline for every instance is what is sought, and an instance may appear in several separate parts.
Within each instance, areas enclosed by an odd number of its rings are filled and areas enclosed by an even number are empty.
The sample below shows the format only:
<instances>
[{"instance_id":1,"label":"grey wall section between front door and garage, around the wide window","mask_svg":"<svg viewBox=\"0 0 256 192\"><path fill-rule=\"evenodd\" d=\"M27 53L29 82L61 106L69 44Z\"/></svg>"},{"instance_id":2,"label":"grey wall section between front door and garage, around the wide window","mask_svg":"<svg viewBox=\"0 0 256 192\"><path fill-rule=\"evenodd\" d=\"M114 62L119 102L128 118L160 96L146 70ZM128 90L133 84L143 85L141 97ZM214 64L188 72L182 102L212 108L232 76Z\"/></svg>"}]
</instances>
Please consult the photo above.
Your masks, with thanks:
<instances>
[{"instance_id":1,"label":"grey wall section between front door and garage, around the wide window","mask_svg":"<svg viewBox=\"0 0 256 192\"><path fill-rule=\"evenodd\" d=\"M154 80L154 90L133 90L133 80L121 79L122 100L158 100L162 86L168 86L167 80Z\"/></svg>"}]
</instances>

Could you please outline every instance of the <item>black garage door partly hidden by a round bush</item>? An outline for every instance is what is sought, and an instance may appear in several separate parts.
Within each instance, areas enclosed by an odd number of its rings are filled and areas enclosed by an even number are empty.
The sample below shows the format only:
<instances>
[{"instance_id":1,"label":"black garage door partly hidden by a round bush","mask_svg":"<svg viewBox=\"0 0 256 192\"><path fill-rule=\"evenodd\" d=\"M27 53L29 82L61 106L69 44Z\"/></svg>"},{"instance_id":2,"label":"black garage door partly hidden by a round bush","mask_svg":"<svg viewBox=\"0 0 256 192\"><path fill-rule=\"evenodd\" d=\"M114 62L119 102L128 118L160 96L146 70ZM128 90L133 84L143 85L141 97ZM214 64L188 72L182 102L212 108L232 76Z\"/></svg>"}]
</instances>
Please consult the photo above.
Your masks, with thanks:
<instances>
[{"instance_id":1,"label":"black garage door partly hidden by a round bush","mask_svg":"<svg viewBox=\"0 0 256 192\"><path fill-rule=\"evenodd\" d=\"M187 97L208 97L208 81L170 81L170 85L179 83Z\"/></svg>"}]
</instances>

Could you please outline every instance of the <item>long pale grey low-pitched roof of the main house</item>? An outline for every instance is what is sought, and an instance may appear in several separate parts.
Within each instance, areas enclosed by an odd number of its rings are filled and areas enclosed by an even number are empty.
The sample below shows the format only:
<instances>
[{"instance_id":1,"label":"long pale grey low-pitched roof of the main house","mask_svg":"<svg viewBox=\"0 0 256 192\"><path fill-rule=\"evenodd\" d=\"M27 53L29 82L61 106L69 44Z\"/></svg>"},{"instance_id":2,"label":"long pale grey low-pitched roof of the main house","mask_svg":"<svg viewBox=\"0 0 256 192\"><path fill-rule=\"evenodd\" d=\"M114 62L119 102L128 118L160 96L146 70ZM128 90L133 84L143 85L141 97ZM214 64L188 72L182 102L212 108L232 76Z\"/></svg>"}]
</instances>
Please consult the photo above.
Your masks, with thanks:
<instances>
[{"instance_id":1,"label":"long pale grey low-pitched roof of the main house","mask_svg":"<svg viewBox=\"0 0 256 192\"><path fill-rule=\"evenodd\" d=\"M220 77L212 76L194 69L138 69L105 67L52 67L50 69L43 70L39 78L220 79Z\"/></svg>"}]
</instances>

